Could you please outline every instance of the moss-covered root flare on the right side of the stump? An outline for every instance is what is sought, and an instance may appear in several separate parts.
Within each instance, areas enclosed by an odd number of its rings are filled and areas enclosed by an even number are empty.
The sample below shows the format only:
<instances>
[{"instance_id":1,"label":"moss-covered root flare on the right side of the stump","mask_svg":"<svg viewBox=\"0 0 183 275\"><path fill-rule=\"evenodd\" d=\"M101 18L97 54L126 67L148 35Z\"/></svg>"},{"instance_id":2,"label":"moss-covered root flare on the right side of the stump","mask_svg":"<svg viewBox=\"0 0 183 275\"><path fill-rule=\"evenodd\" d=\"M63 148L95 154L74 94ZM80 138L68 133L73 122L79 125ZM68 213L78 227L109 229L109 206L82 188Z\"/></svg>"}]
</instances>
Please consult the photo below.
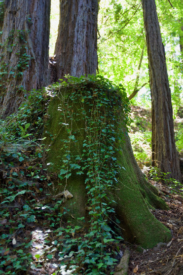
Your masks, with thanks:
<instances>
[{"instance_id":1,"label":"moss-covered root flare on the right side of the stump","mask_svg":"<svg viewBox=\"0 0 183 275\"><path fill-rule=\"evenodd\" d=\"M166 203L157 196L156 189L148 188L149 184L135 162L128 135L125 135L125 142L119 142L117 147L121 148L117 154L121 169L116 186L116 212L124 236L144 248L168 242L171 239L170 231L149 210L168 209Z\"/></svg>"}]
</instances>

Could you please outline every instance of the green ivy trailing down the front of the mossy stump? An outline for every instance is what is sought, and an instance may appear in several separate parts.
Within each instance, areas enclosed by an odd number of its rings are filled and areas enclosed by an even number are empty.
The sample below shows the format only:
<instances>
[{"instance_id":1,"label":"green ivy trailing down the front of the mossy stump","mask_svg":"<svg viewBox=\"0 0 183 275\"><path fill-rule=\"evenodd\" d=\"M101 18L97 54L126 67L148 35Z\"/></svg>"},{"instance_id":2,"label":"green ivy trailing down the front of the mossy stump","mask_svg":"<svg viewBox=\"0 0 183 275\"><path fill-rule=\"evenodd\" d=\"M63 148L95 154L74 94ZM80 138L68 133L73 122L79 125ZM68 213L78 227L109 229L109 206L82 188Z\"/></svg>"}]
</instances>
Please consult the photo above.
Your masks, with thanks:
<instances>
[{"instance_id":1,"label":"green ivy trailing down the front of the mossy stump","mask_svg":"<svg viewBox=\"0 0 183 275\"><path fill-rule=\"evenodd\" d=\"M109 226L110 217L115 216L115 211L112 205L114 202L110 201L108 193L118 182L119 166L116 162L115 144L121 139L121 133L114 129L119 123L120 112L124 111L124 126L128 124L128 99L121 85L113 86L108 79L100 76L79 79L69 77L68 82L55 85L55 90L61 90L63 97L59 107L61 131L67 133L67 139L62 140L63 150L59 153L59 178L61 185L65 186L72 175L86 175L91 229L85 234L83 242L80 237L75 237L80 227L73 227L72 222L66 229L59 228L59 234L62 231L67 243L67 247L63 247L60 252L60 260L63 260L64 265L66 258L73 256L70 271L74 271L74 274L106 274L109 266L116 261L112 256L115 256L116 251L111 249L109 252L107 247L120 238ZM77 149L80 147L77 145L77 136L82 133L73 126L80 119L85 125L86 134L81 151ZM73 147L75 150L71 149ZM74 236L74 240L71 236Z\"/></svg>"}]
</instances>

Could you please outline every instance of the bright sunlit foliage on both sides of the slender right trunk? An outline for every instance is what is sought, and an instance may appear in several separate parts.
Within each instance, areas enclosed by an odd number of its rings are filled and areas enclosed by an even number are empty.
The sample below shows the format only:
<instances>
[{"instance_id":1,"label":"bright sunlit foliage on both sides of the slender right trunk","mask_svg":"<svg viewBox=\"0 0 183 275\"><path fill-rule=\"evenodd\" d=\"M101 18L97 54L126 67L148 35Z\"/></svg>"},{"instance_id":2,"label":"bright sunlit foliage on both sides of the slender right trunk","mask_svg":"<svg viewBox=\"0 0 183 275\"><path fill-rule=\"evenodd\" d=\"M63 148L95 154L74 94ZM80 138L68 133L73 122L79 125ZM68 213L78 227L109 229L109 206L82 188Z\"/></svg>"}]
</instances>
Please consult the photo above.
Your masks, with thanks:
<instances>
[{"instance_id":1,"label":"bright sunlit foliage on both sides of the slender right trunk","mask_svg":"<svg viewBox=\"0 0 183 275\"><path fill-rule=\"evenodd\" d=\"M166 62L172 92L172 103L176 114L182 101L183 55L180 52L180 39L183 37L183 2L156 1L157 13L165 45ZM171 20L170 20L171 18ZM124 83L130 95L135 86L142 48L146 43L143 11L141 2L132 0L101 0L99 10L98 55L99 72L114 81ZM139 87L148 82L148 59L146 48L140 71ZM150 104L150 89L146 85L138 92L133 104L147 106Z\"/></svg>"}]
</instances>

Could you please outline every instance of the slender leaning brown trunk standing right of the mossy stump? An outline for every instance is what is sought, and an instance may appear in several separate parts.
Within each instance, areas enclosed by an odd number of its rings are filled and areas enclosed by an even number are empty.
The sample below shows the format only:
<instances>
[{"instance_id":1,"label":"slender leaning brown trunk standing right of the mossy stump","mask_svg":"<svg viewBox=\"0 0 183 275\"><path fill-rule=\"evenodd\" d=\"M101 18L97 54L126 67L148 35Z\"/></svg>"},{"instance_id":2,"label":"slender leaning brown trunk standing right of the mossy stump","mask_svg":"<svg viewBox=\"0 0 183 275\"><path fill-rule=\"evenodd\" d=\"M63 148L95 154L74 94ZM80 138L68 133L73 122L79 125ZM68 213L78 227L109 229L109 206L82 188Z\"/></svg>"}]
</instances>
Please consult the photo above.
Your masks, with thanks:
<instances>
[{"instance_id":1,"label":"slender leaning brown trunk standing right of the mossy stump","mask_svg":"<svg viewBox=\"0 0 183 275\"><path fill-rule=\"evenodd\" d=\"M152 118L152 161L168 178L181 181L175 145L171 91L165 50L154 0L142 0L149 64Z\"/></svg>"}]
</instances>

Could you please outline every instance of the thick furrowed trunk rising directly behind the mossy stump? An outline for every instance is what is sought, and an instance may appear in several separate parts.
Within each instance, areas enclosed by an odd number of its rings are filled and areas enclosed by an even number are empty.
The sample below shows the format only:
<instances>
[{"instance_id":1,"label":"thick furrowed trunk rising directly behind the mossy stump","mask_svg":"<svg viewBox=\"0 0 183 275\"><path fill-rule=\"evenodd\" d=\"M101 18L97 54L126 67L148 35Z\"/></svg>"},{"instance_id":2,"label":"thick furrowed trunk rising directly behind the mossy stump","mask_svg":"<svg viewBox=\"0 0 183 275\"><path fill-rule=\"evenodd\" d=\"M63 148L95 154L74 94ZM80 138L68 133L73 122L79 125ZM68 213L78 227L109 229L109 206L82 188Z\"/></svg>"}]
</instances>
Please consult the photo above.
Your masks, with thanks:
<instances>
[{"instance_id":1,"label":"thick furrowed trunk rising directly behind the mossy stump","mask_svg":"<svg viewBox=\"0 0 183 275\"><path fill-rule=\"evenodd\" d=\"M60 1L60 22L55 46L57 78L96 74L97 0Z\"/></svg>"}]
</instances>

